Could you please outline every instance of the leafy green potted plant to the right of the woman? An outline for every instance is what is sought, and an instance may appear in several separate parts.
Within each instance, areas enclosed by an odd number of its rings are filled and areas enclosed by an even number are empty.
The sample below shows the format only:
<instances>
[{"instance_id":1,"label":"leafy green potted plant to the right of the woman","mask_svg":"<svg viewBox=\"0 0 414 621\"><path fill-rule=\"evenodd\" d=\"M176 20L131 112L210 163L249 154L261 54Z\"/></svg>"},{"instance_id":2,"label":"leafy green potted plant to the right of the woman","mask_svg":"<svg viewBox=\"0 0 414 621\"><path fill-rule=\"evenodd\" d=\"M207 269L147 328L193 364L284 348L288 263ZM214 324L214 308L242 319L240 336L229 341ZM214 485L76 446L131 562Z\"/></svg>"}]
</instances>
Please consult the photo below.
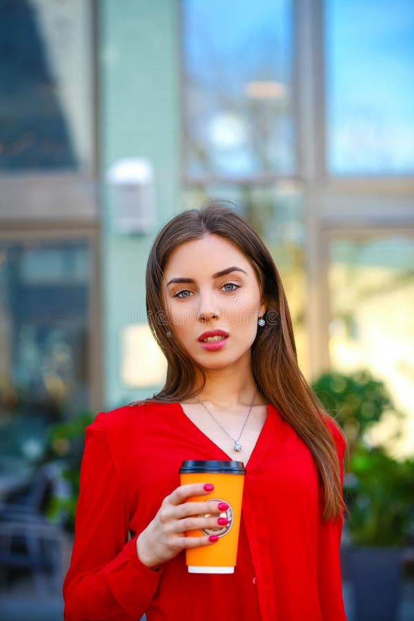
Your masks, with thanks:
<instances>
[{"instance_id":1,"label":"leafy green potted plant to the right of the woman","mask_svg":"<svg viewBox=\"0 0 414 621\"><path fill-rule=\"evenodd\" d=\"M385 413L402 415L383 382L368 371L354 375L324 373L313 389L344 428L350 460L344 497L351 540L361 546L398 546L414 535L414 460L398 461L386 445L370 446L366 432Z\"/></svg>"}]
</instances>

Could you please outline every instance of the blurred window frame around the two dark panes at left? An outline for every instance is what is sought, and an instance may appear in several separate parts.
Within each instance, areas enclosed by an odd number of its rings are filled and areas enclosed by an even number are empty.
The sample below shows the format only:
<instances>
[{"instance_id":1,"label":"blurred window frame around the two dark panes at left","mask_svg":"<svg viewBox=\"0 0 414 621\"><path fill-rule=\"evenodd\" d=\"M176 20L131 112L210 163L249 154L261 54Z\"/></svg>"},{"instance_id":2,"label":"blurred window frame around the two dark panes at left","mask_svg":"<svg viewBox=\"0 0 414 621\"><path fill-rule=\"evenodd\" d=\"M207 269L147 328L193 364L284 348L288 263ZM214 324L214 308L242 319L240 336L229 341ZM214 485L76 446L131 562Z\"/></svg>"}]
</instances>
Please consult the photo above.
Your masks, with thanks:
<instances>
[{"instance_id":1,"label":"blurred window frame around the two dark panes at left","mask_svg":"<svg viewBox=\"0 0 414 621\"><path fill-rule=\"evenodd\" d=\"M103 404L101 261L99 226L99 0L86 0L90 32L92 119L90 168L82 172L24 169L0 172L0 243L86 240L92 256L90 281L90 408Z\"/></svg>"}]
</instances>

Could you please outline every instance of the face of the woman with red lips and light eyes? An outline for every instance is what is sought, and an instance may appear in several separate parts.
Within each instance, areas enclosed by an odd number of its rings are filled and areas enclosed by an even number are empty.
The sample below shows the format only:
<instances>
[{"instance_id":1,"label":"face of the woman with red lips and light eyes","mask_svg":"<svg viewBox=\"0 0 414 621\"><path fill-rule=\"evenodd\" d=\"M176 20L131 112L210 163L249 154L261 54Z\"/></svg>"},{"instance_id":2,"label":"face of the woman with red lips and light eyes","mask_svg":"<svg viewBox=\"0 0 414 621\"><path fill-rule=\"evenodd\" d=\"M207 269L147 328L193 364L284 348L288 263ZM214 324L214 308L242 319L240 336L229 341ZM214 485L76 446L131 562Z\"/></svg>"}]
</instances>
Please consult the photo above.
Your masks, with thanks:
<instances>
[{"instance_id":1,"label":"face of the woman with red lips and light eyes","mask_svg":"<svg viewBox=\"0 0 414 621\"><path fill-rule=\"evenodd\" d=\"M171 253L163 279L171 338L204 368L250 359L257 319L266 311L257 277L236 246L218 235Z\"/></svg>"}]
</instances>

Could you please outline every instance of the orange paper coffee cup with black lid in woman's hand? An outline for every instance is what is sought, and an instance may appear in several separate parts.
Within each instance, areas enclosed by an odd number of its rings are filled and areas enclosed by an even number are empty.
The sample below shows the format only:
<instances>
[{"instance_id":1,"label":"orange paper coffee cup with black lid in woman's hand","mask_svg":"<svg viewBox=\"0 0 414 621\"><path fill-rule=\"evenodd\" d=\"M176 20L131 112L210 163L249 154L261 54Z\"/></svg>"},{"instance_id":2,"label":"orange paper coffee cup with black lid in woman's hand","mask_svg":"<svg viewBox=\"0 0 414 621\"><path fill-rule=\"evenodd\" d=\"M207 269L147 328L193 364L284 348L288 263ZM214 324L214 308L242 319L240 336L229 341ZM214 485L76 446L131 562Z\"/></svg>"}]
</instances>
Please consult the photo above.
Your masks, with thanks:
<instances>
[{"instance_id":1,"label":"orange paper coffee cup with black lid in woman's hand","mask_svg":"<svg viewBox=\"0 0 414 621\"><path fill-rule=\"evenodd\" d=\"M203 531L188 531L187 536L218 535L218 541L210 546L199 546L186 550L186 564L190 573L233 573L237 559L244 469L243 462L231 460L186 460L179 469L181 485L188 483L212 483L209 494L192 496L189 501L205 502L217 500L226 502L228 510L217 517L227 517L226 526ZM206 513L208 515L208 513Z\"/></svg>"}]
</instances>

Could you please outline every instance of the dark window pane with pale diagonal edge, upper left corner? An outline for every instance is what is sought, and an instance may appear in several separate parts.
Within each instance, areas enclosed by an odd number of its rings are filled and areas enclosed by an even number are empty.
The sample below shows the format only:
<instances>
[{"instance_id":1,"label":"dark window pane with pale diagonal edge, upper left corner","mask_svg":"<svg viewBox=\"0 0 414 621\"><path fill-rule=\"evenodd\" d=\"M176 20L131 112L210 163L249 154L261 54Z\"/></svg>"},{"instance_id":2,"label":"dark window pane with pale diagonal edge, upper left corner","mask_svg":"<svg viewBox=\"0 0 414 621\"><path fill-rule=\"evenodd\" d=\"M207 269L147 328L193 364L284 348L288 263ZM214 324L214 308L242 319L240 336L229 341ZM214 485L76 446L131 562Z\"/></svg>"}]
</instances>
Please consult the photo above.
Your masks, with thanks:
<instances>
[{"instance_id":1,"label":"dark window pane with pale diagonal edge, upper left corner","mask_svg":"<svg viewBox=\"0 0 414 621\"><path fill-rule=\"evenodd\" d=\"M92 155L90 3L0 6L0 170L84 170Z\"/></svg>"}]
</instances>

